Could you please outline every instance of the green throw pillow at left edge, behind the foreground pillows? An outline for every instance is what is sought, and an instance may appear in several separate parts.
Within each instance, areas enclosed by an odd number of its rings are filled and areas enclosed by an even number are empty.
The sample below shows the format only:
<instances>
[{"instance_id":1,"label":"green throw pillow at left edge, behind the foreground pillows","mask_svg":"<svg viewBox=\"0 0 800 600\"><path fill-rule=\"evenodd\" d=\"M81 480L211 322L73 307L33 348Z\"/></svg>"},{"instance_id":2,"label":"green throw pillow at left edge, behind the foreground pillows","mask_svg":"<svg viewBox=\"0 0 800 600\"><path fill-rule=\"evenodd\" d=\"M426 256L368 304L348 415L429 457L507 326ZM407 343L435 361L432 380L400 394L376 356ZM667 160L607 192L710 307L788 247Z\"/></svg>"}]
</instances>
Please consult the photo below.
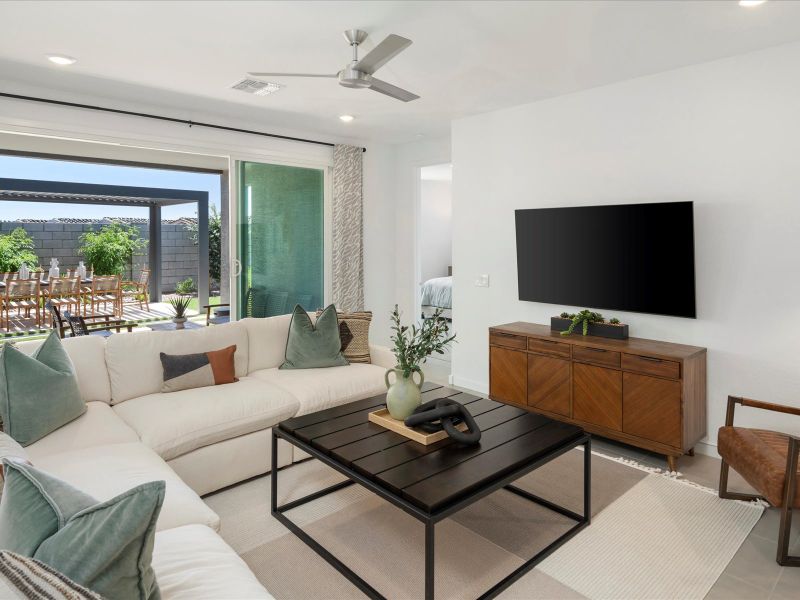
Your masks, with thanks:
<instances>
[{"instance_id":1,"label":"green throw pillow at left edge, behind the foreground pillows","mask_svg":"<svg viewBox=\"0 0 800 600\"><path fill-rule=\"evenodd\" d=\"M32 356L3 344L0 417L8 435L28 446L85 412L75 368L56 331Z\"/></svg>"}]
</instances>

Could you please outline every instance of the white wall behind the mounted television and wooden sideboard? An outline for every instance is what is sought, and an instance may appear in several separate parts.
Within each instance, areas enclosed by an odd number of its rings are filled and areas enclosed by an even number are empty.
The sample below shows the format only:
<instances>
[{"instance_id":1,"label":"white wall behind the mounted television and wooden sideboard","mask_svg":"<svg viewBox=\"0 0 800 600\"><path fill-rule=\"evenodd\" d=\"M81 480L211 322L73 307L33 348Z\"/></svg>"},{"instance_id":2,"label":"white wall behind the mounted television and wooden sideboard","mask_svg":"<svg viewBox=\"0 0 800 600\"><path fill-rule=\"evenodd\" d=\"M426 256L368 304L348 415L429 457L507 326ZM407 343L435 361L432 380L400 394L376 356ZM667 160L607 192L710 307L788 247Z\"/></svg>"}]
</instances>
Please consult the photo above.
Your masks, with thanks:
<instances>
[{"instance_id":1,"label":"white wall behind the mounted television and wooden sideboard","mask_svg":"<svg viewBox=\"0 0 800 600\"><path fill-rule=\"evenodd\" d=\"M514 209L692 200L698 318L614 314L708 348L712 444L728 394L800 406L798 64L791 44L456 121L455 383L487 389L490 325L581 308L517 299Z\"/></svg>"}]
</instances>

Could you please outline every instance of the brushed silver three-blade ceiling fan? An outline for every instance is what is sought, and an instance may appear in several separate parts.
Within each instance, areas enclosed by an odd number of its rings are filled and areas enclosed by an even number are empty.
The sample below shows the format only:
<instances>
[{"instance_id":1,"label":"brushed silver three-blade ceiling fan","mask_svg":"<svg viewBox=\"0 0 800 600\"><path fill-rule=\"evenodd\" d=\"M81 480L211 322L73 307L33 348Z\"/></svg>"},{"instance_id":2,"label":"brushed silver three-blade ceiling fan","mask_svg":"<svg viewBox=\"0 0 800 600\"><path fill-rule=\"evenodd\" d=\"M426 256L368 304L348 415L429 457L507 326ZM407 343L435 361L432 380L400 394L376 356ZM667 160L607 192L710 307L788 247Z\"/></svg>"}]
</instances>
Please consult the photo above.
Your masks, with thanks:
<instances>
[{"instance_id":1,"label":"brushed silver three-blade ceiling fan","mask_svg":"<svg viewBox=\"0 0 800 600\"><path fill-rule=\"evenodd\" d=\"M248 73L248 75L253 77L335 77L339 80L339 85L344 87L368 88L403 102L419 98L416 94L372 76L375 71L408 48L412 43L411 40L390 34L364 58L359 60L358 46L367 39L367 32L360 29L348 29L344 32L344 37L353 48L353 60L338 73L332 75L314 73Z\"/></svg>"}]
</instances>

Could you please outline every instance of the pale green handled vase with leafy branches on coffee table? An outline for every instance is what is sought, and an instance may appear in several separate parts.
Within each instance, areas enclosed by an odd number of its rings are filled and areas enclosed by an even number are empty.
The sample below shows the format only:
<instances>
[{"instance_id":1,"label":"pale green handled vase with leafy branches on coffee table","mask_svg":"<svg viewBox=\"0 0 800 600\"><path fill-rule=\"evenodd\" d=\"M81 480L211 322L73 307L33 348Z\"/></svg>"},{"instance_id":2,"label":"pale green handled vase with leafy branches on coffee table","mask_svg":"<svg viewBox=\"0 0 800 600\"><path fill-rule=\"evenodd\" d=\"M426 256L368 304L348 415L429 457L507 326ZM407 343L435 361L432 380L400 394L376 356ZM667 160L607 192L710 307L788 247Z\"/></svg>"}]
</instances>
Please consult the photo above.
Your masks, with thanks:
<instances>
[{"instance_id":1,"label":"pale green handled vase with leafy branches on coffee table","mask_svg":"<svg viewBox=\"0 0 800 600\"><path fill-rule=\"evenodd\" d=\"M392 335L394 342L394 356L397 364L393 369L386 371L385 381L386 408L389 414L398 420L403 420L422 403L422 383L425 376L420 364L424 363L431 354L444 354L444 349L456 339L450 332L447 319L442 317L441 309L437 309L433 316L422 321L422 325L403 325L400 322L400 311L395 304L392 311ZM389 383L389 375L394 373L394 383ZM419 382L414 381L414 373L419 375Z\"/></svg>"}]
</instances>

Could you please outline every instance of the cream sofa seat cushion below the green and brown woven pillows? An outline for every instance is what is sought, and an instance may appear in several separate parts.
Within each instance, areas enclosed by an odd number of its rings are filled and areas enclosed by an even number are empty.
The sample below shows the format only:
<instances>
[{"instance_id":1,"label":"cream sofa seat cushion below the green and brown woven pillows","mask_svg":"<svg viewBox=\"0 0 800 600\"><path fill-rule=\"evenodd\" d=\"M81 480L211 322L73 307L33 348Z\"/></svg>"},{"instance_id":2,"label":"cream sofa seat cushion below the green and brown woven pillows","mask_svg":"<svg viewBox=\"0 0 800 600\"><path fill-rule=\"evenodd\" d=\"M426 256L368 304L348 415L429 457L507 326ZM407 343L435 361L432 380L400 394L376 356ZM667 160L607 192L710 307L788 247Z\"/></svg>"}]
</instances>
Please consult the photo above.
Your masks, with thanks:
<instances>
[{"instance_id":1,"label":"cream sofa seat cushion below the green and brown woven pillows","mask_svg":"<svg viewBox=\"0 0 800 600\"><path fill-rule=\"evenodd\" d=\"M251 377L283 388L300 403L298 415L386 393L386 369L353 364L322 369L262 369Z\"/></svg>"}]
</instances>

